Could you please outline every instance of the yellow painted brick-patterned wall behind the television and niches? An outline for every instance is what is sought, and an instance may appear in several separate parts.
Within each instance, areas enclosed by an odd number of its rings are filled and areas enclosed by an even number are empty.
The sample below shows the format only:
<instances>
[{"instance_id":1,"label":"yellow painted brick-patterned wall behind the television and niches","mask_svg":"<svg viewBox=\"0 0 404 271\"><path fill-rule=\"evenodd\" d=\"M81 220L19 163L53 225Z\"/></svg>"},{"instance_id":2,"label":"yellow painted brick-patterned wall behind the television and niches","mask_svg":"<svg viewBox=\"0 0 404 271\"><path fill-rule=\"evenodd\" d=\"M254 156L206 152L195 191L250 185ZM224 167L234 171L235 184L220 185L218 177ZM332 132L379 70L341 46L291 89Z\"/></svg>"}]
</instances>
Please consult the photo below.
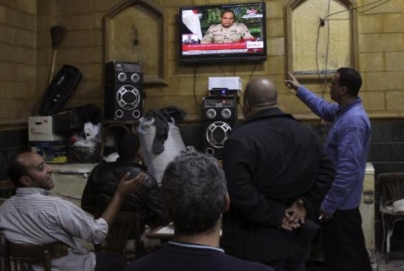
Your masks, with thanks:
<instances>
[{"instance_id":1,"label":"yellow painted brick-patterned wall behind the television and niches","mask_svg":"<svg viewBox=\"0 0 404 271\"><path fill-rule=\"evenodd\" d=\"M365 5L374 0L357 0ZM13 125L38 112L46 90L52 48L50 28L63 25L65 39L57 50L55 73L62 64L80 69L83 78L65 107L95 103L103 109L103 16L121 0L7 0L0 4L0 124ZM206 0L154 0L165 10L168 23L168 86L147 88L146 110L179 106L188 119L198 119L210 76L267 76L278 85L281 109L302 119L315 119L283 85L285 72L285 0L266 0L268 60L251 63L180 66L177 45L178 6L206 4ZM210 4L248 0L209 0ZM361 97L369 115L404 116L404 1L386 4L357 15ZM365 12L363 12L365 11ZM313 41L314 42L314 41ZM310 85L318 90L318 85Z\"/></svg>"}]
</instances>

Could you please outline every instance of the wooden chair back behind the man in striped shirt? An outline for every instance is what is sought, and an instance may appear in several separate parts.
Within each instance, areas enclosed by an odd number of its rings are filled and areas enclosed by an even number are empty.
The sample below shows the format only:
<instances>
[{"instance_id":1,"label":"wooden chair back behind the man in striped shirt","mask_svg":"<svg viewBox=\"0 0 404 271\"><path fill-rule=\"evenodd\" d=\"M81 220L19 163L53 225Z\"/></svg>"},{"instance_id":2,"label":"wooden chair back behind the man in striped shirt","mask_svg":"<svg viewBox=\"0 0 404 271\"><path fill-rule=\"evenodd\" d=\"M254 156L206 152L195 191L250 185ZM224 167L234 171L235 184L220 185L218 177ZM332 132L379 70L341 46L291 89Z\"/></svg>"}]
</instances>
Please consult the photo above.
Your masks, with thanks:
<instances>
[{"instance_id":1,"label":"wooden chair back behind the man in striped shirt","mask_svg":"<svg viewBox=\"0 0 404 271\"><path fill-rule=\"evenodd\" d=\"M68 253L68 246L62 242L32 245L5 241L2 244L5 271L25 271L25 265L33 263L42 263L44 271L51 271L51 261Z\"/></svg>"}]
</instances>

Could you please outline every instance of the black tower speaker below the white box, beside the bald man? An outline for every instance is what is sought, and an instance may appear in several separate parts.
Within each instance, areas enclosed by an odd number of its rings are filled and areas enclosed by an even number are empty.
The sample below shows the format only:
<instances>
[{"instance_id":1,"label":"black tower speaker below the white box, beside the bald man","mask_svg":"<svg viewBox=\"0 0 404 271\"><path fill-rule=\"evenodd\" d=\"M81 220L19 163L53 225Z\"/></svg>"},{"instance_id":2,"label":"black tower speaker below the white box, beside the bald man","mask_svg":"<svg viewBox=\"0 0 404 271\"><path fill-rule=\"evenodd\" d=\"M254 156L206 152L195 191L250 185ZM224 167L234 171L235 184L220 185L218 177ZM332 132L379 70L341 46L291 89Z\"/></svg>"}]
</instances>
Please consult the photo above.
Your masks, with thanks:
<instances>
[{"instance_id":1,"label":"black tower speaker below the white box, beside the bald man","mask_svg":"<svg viewBox=\"0 0 404 271\"><path fill-rule=\"evenodd\" d=\"M203 97L203 152L222 158L224 142L237 122L238 97Z\"/></svg>"}]
</instances>

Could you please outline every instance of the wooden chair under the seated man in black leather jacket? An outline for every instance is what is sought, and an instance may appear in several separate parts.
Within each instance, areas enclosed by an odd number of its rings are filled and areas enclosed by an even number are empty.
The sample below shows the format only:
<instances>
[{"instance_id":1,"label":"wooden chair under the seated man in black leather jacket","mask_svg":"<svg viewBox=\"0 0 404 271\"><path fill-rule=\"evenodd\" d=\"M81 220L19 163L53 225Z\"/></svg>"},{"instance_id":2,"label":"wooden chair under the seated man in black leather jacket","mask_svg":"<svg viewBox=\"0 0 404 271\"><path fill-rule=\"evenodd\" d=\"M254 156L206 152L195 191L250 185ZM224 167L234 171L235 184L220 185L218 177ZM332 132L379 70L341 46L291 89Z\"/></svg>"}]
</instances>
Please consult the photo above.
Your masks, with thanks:
<instances>
[{"instance_id":1,"label":"wooden chair under the seated man in black leather jacket","mask_svg":"<svg viewBox=\"0 0 404 271\"><path fill-rule=\"evenodd\" d=\"M94 217L99 217L99 215L94 215ZM125 251L126 242L129 239L134 239L133 251L136 258L146 254L144 244L141 240L145 225L143 225L141 219L141 212L118 212L105 238L107 247L104 250L128 256L128 253ZM96 250L100 250L100 246L96 246Z\"/></svg>"}]
</instances>

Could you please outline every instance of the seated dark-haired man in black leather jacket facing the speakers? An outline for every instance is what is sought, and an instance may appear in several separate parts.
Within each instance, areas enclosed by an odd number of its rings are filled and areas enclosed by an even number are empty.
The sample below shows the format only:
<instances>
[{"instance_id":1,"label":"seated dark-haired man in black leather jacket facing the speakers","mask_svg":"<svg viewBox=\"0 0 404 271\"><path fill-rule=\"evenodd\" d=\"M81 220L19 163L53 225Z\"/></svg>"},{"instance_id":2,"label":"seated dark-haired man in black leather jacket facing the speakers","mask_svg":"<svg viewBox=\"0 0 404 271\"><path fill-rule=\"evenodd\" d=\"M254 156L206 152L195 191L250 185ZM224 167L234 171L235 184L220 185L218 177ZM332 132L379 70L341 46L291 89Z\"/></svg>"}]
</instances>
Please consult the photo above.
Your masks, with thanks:
<instances>
[{"instance_id":1,"label":"seated dark-haired man in black leather jacket facing the speakers","mask_svg":"<svg viewBox=\"0 0 404 271\"><path fill-rule=\"evenodd\" d=\"M135 134L126 134L118 138L117 161L97 165L88 177L81 201L81 208L84 211L102 213L116 191L119 176L129 172L133 178L146 173L146 168L137 162L139 147L139 137ZM167 224L157 181L147 173L141 188L124 201L120 211L141 211L144 218L143 225L154 227Z\"/></svg>"}]
</instances>

